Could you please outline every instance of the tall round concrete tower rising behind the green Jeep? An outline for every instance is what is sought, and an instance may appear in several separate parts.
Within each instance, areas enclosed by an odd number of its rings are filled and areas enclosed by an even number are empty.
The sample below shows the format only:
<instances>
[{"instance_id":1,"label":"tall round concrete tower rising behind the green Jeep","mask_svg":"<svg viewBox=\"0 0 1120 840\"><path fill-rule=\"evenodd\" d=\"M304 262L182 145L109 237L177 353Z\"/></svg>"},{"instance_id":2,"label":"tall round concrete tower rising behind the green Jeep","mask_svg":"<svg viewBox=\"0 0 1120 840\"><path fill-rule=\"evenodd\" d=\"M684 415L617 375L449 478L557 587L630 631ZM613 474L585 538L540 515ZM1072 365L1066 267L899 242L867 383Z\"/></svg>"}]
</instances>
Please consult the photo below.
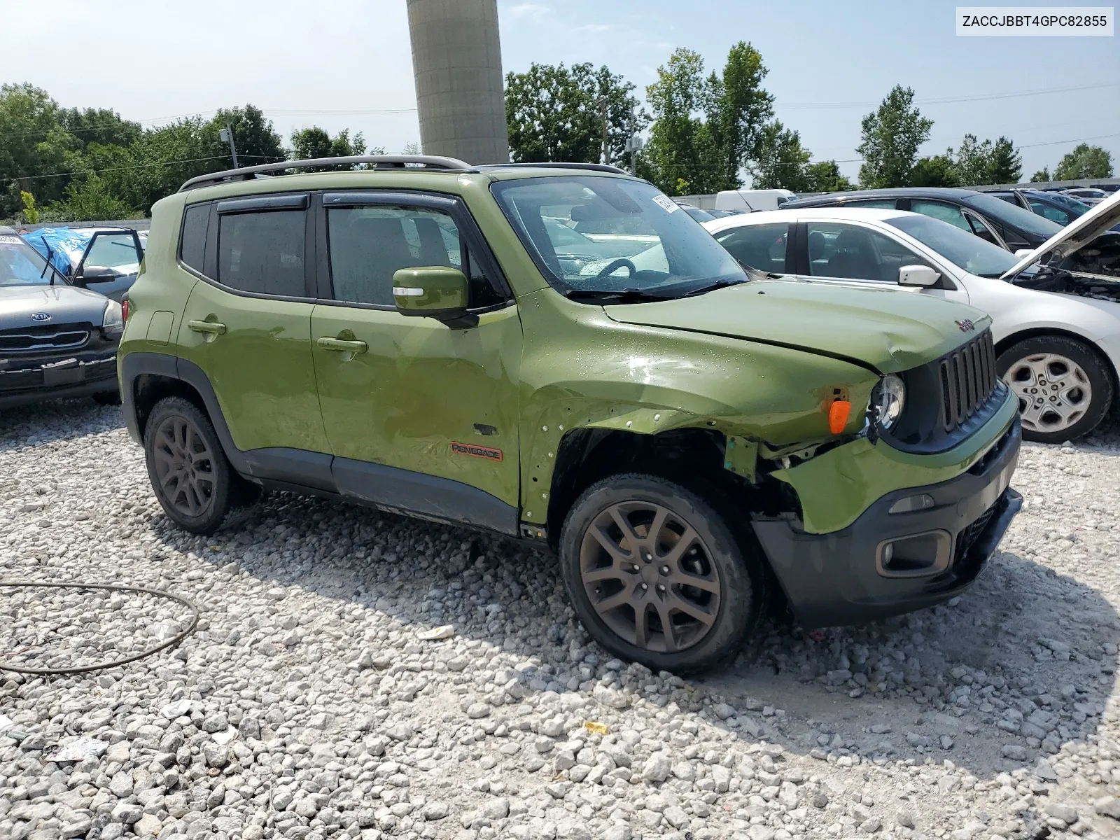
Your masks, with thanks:
<instances>
[{"instance_id":1,"label":"tall round concrete tower rising behind the green Jeep","mask_svg":"<svg viewBox=\"0 0 1120 840\"><path fill-rule=\"evenodd\" d=\"M408 0L408 8L423 153L508 162L497 0Z\"/></svg>"}]
</instances>

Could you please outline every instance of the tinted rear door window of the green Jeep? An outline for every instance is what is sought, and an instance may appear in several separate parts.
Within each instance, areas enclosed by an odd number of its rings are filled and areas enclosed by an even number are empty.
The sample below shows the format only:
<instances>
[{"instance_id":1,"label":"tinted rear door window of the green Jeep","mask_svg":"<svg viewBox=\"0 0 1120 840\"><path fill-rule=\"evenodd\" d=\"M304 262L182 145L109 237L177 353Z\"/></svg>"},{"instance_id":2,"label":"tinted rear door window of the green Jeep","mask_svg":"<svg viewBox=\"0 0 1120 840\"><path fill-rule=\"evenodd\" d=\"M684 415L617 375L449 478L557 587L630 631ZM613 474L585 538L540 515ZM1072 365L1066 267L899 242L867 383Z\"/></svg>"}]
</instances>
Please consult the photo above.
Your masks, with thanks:
<instances>
[{"instance_id":1,"label":"tinted rear door window of the green Jeep","mask_svg":"<svg viewBox=\"0 0 1120 840\"><path fill-rule=\"evenodd\" d=\"M226 213L218 217L217 281L239 291L307 297L306 211Z\"/></svg>"}]
</instances>

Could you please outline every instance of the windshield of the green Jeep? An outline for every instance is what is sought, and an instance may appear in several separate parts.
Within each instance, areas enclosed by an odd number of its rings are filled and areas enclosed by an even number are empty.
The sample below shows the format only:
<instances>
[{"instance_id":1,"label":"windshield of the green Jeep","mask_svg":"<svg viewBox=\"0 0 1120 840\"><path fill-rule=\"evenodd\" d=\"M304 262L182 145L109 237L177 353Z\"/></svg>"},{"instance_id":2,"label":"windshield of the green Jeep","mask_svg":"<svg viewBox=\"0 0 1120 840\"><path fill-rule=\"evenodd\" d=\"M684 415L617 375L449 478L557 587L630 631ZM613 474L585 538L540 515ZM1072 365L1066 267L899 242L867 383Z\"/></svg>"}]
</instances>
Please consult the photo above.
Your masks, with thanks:
<instances>
[{"instance_id":1,"label":"windshield of the green Jeep","mask_svg":"<svg viewBox=\"0 0 1120 840\"><path fill-rule=\"evenodd\" d=\"M679 297L747 280L735 259L651 184L560 176L498 181L492 189L545 279L571 297Z\"/></svg>"}]
</instances>

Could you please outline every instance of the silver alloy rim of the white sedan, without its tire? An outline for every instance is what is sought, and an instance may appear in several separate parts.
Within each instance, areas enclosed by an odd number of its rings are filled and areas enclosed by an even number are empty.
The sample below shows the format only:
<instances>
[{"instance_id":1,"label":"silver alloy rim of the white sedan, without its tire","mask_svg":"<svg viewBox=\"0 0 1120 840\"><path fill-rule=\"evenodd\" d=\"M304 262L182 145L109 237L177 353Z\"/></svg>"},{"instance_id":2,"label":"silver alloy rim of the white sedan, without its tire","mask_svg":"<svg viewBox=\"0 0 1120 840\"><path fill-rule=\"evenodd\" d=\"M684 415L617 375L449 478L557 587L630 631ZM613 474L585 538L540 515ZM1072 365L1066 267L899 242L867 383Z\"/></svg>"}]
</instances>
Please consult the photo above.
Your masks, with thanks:
<instances>
[{"instance_id":1,"label":"silver alloy rim of the white sedan, without its tire","mask_svg":"<svg viewBox=\"0 0 1120 840\"><path fill-rule=\"evenodd\" d=\"M1011 364L1004 381L1019 398L1025 429L1056 432L1077 423L1089 411L1093 386L1073 360L1057 353L1035 353Z\"/></svg>"}]
</instances>

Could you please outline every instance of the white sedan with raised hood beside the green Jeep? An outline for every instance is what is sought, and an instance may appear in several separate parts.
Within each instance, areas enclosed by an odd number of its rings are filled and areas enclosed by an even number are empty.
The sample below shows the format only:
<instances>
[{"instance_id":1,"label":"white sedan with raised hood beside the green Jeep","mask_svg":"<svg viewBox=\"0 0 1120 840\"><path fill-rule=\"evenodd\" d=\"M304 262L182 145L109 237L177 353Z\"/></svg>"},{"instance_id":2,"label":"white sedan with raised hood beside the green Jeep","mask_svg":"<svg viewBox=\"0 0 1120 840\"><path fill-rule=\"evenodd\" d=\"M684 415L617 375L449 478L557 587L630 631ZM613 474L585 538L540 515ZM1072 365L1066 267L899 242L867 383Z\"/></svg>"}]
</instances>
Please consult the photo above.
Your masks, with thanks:
<instances>
[{"instance_id":1,"label":"white sedan with raised hood beside the green Jeep","mask_svg":"<svg viewBox=\"0 0 1120 840\"><path fill-rule=\"evenodd\" d=\"M1065 269L1118 214L1120 195L1021 260L945 222L894 209L772 211L703 226L739 262L762 271L893 288L987 311L997 368L1019 398L1024 437L1053 444L1092 431L1117 393L1120 271L1112 269L1120 269L1120 234L1108 234L1117 239L1111 246L1094 242L1084 250L1088 272ZM1062 270L1034 264L1055 256Z\"/></svg>"}]
</instances>

